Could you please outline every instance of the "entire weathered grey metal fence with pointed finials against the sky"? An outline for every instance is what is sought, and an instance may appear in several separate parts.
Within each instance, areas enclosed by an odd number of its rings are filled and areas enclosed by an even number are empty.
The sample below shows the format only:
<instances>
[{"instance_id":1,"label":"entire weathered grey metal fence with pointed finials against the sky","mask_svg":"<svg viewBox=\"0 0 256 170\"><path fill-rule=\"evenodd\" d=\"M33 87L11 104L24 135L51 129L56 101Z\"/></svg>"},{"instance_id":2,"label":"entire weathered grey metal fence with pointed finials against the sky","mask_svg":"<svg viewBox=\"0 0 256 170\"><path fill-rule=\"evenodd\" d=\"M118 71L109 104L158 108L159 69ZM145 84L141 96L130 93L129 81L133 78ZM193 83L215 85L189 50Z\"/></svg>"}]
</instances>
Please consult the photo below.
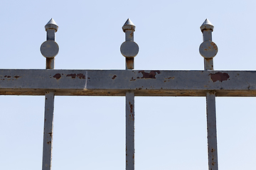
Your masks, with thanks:
<instances>
[{"instance_id":1,"label":"entire weathered grey metal fence with pointed finials against the sky","mask_svg":"<svg viewBox=\"0 0 256 170\"><path fill-rule=\"evenodd\" d=\"M201 26L203 42L199 52L204 70L134 70L139 46L134 42L135 26L129 19L122 30L125 41L120 50L126 58L125 70L54 69L58 26L51 19L45 26L47 40L41 45L46 69L1 69L1 95L46 96L43 132L43 170L51 169L54 96L126 97L126 169L134 170L134 96L206 96L208 168L218 169L215 116L216 96L256 96L255 71L214 71L213 57L218 47L212 41L213 25Z\"/></svg>"}]
</instances>

